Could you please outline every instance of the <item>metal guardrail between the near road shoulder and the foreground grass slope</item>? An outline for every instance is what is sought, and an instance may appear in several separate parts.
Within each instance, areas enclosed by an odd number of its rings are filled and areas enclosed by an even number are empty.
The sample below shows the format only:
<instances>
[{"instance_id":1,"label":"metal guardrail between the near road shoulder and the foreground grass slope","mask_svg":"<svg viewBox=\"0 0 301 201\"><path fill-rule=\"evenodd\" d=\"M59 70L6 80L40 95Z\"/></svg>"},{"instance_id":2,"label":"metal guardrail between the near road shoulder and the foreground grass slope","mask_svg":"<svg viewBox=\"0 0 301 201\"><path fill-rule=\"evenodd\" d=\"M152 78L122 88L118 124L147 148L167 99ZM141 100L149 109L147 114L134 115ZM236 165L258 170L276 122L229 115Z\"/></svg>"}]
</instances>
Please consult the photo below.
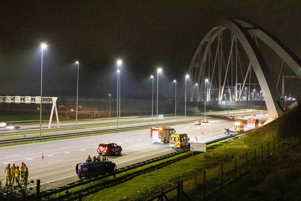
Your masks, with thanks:
<instances>
[{"instance_id":1,"label":"metal guardrail between the near road shoulder and the foreground grass slope","mask_svg":"<svg viewBox=\"0 0 301 201\"><path fill-rule=\"evenodd\" d=\"M229 139L229 138L237 137L239 135L246 134L247 132L250 132L250 131L253 131L253 129L241 132L239 134L230 135L230 136L227 136L227 137L224 137L224 138L219 138L217 140L209 141L209 142L206 143L206 145L213 144L213 143L216 143L216 142L219 142L219 141L223 141L223 140L226 140L226 139ZM148 165L148 164L151 164L153 162L164 160L164 159L167 159L167 158L170 158L170 157L173 157L173 156L177 156L179 154L186 153L186 152L190 151L190 149L182 149L182 150L177 149L177 150L178 151L176 151L176 152L169 153L169 154L166 154L166 155L163 155L163 156L159 156L159 157L156 157L156 158L153 158L153 159L145 160L143 162L138 162L138 163L135 163L133 165L129 165L129 166L117 169L114 172L106 173L104 175L99 175L98 177L95 177L95 178L75 181L73 183L66 184L62 187L57 187L57 188L54 188L54 189L42 191L40 193L40 196L42 196L42 197L49 196L49 195L59 193L59 192L64 191L64 190L68 190L68 189L71 189L71 188L74 188L74 187L81 186L83 184L91 183L92 181L97 181L99 179L104 179L104 178L107 178L107 177L110 177L110 176L115 177L115 175L120 174L122 172L126 172L126 171L129 171L129 170L132 170L132 169L136 169L136 168L141 167L143 165Z\"/></svg>"}]
</instances>

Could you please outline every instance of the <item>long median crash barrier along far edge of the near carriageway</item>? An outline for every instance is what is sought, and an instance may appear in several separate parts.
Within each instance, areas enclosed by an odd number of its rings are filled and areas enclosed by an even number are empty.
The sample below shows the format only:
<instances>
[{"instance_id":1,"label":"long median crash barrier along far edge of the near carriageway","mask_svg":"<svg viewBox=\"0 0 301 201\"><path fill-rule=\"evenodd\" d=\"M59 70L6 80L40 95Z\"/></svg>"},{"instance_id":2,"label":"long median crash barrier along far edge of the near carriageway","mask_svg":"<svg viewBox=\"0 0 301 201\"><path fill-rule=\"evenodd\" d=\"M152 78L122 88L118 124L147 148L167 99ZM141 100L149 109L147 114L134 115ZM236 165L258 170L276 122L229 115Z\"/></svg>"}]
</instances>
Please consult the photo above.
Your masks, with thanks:
<instances>
[{"instance_id":1,"label":"long median crash barrier along far edge of the near carriageway","mask_svg":"<svg viewBox=\"0 0 301 201\"><path fill-rule=\"evenodd\" d=\"M237 115L240 116L240 115ZM199 119L199 118L198 118ZM210 121L216 121L221 119L227 119L227 117L221 117L221 118L212 118L209 119ZM81 132L71 132L71 133L64 133L64 134L54 134L54 135L43 135L41 138L39 136L33 136L33 137L23 137L23 138L10 138L10 139L2 139L0 140L0 144L3 143L11 143L11 142L23 142L23 141L32 141L32 140L41 140L41 139L49 139L49 138L60 138L60 137L67 137L67 136L74 136L74 135L84 135L84 134L93 134L93 133L103 133L103 132L111 132L111 131L123 131L128 129L137 129L137 128L147 128L151 126L164 126L164 125L171 125L171 124L178 124L178 123L186 123L186 122L194 122L196 119L193 120L187 120L187 121L181 121L181 122L170 122L170 123L164 123L164 124L149 124L149 125L143 125L143 126L131 126L131 127L124 127L124 128L113 128L113 129L101 129L96 131L81 131Z\"/></svg>"}]
</instances>

